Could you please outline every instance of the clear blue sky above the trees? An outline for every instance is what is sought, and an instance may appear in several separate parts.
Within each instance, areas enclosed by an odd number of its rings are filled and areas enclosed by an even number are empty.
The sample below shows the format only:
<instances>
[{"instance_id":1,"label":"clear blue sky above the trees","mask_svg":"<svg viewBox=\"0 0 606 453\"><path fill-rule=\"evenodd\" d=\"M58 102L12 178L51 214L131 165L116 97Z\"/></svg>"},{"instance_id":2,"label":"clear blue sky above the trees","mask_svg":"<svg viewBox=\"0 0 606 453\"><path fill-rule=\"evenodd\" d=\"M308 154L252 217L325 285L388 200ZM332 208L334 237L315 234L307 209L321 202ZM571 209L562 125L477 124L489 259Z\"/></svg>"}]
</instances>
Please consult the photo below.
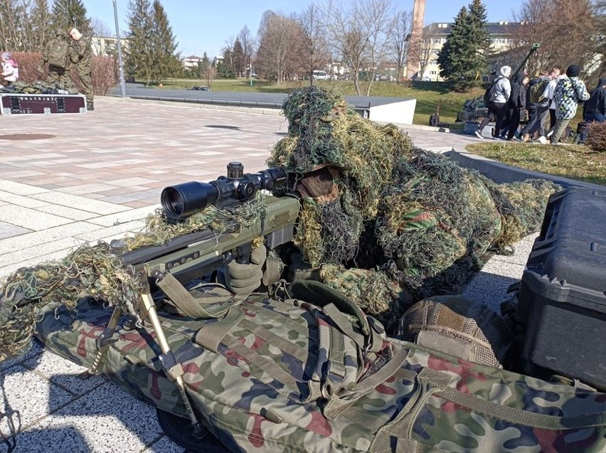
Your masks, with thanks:
<instances>
[{"instance_id":1,"label":"clear blue sky above the trees","mask_svg":"<svg viewBox=\"0 0 606 453\"><path fill-rule=\"evenodd\" d=\"M341 0L348 1L348 0ZM491 22L511 20L512 12L518 11L523 0L484 0L488 20ZM127 29L128 0L116 0L121 31ZM452 22L462 6L471 0L427 0L425 23ZM299 13L313 0L162 0L162 6L179 42L181 56L219 55L230 37L238 35L243 26L248 26L253 36L257 34L263 12ZM315 1L321 4L321 0ZM112 0L83 0L88 16L103 21L115 31ZM393 0L400 10L411 11L413 0ZM113 33L112 33L113 34Z\"/></svg>"}]
</instances>

